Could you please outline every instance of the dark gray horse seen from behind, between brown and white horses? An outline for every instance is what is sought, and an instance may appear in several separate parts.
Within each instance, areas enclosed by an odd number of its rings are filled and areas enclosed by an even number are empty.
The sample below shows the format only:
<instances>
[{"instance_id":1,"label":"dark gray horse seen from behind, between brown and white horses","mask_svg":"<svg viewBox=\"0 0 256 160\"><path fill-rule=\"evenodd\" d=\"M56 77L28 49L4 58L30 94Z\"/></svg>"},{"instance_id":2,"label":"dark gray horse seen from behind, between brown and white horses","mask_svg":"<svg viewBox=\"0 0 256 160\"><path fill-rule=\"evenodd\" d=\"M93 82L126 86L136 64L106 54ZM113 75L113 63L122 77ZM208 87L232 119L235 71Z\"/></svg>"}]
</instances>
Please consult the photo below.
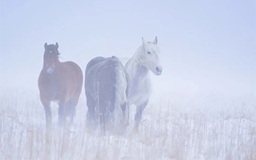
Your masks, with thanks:
<instances>
[{"instance_id":1,"label":"dark gray horse seen from behind, between brown and white horses","mask_svg":"<svg viewBox=\"0 0 256 160\"><path fill-rule=\"evenodd\" d=\"M97 57L86 66L87 127L121 133L129 121L129 77L118 58Z\"/></svg>"}]
</instances>

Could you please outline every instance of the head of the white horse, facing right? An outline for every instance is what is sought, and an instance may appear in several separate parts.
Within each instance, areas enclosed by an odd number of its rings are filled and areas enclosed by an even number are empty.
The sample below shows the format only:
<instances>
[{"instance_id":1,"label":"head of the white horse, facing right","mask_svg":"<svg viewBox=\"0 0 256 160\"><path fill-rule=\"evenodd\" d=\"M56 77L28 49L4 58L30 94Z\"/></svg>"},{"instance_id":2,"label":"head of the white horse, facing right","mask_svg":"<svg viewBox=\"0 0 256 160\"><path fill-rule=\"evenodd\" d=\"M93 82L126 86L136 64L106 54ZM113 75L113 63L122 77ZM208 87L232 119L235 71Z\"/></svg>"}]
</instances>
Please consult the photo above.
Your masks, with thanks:
<instances>
[{"instance_id":1,"label":"head of the white horse, facing right","mask_svg":"<svg viewBox=\"0 0 256 160\"><path fill-rule=\"evenodd\" d=\"M157 46L158 38L155 37L153 42L147 42L142 38L142 56L141 62L143 66L146 66L155 75L162 74L162 66L159 62L160 50Z\"/></svg>"}]
</instances>

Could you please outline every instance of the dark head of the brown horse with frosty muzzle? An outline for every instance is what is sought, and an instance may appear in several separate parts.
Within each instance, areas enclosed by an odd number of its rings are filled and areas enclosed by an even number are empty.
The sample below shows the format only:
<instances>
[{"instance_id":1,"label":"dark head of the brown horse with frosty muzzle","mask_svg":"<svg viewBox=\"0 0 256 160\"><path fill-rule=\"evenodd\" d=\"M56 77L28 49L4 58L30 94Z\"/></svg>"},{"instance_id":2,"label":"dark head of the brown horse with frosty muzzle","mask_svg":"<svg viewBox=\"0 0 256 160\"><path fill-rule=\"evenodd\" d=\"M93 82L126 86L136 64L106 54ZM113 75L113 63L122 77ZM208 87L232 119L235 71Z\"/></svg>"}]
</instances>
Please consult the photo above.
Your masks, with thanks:
<instances>
[{"instance_id":1,"label":"dark head of the brown horse with frosty muzzle","mask_svg":"<svg viewBox=\"0 0 256 160\"><path fill-rule=\"evenodd\" d=\"M58 42L55 45L45 43L45 54L43 56L43 68L47 74L52 74L58 61Z\"/></svg>"}]
</instances>

